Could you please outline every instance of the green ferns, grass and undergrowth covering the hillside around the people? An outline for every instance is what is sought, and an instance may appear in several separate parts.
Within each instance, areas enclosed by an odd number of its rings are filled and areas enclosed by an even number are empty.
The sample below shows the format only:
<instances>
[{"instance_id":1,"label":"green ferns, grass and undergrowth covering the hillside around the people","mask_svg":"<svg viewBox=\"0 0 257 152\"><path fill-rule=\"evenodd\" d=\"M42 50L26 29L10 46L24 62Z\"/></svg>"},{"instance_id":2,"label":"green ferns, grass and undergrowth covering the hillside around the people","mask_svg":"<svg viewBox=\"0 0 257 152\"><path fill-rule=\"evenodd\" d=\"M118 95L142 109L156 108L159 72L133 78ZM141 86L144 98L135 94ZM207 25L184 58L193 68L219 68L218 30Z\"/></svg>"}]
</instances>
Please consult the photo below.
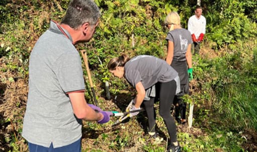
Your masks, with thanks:
<instances>
[{"instance_id":1,"label":"green ferns, grass and undergrowth covering the hillside around the people","mask_svg":"<svg viewBox=\"0 0 257 152\"><path fill-rule=\"evenodd\" d=\"M187 28L196 1L95 2L102 13L99 27L89 43L76 47L87 50L100 107L122 111L135 91L125 80L111 77L106 68L109 59L121 52L165 58L167 13L177 11ZM21 132L29 55L50 19L60 21L68 3L0 1L0 151L28 151ZM206 36L200 55L193 56L194 80L191 95L185 96L195 105L193 128L179 125L178 140L183 151L256 151L257 2L203 0L201 4ZM111 82L111 100L105 99L105 81ZM85 96L92 102L90 90ZM111 128L115 118L105 125L84 122L82 151L164 151L167 131L162 118L157 117L157 126L164 140L153 140L146 133L145 116L142 113L115 128Z\"/></svg>"}]
</instances>

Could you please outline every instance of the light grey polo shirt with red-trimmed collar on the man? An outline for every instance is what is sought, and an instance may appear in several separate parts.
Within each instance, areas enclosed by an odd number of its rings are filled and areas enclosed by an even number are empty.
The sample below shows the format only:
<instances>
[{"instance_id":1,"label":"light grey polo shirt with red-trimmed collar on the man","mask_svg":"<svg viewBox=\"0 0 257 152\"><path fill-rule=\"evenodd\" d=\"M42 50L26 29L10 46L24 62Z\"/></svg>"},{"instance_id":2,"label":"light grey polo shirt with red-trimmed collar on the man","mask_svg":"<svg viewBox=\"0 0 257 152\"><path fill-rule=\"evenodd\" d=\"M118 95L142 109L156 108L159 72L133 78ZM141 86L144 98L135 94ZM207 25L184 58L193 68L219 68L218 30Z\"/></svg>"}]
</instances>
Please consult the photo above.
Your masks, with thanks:
<instances>
[{"instance_id":1,"label":"light grey polo shirt with red-trimmed collar on the man","mask_svg":"<svg viewBox=\"0 0 257 152\"><path fill-rule=\"evenodd\" d=\"M75 117L67 93L84 90L85 85L79 52L68 36L51 22L30 56L22 135L45 147L51 142L54 147L68 145L82 136L82 120Z\"/></svg>"}]
</instances>

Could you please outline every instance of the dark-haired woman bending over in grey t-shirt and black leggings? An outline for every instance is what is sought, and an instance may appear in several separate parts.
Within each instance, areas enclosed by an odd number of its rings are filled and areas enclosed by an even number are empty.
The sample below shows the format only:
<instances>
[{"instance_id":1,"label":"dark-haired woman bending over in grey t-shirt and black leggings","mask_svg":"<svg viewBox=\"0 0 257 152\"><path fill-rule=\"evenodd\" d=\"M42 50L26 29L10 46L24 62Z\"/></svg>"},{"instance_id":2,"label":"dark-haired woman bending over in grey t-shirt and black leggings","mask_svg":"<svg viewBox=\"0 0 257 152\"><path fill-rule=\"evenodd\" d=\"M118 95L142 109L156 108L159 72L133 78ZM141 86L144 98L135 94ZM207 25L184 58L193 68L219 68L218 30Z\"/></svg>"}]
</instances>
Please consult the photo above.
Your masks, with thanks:
<instances>
[{"instance_id":1,"label":"dark-haired woman bending over in grey t-shirt and black leggings","mask_svg":"<svg viewBox=\"0 0 257 152\"><path fill-rule=\"evenodd\" d=\"M128 106L130 111L140 109L143 103L146 90L158 84L160 86L160 115L163 118L170 136L168 150L180 151L177 141L177 126L170 113L170 107L176 93L180 92L178 72L160 58L150 55L139 55L129 58L125 54L112 58L108 63L109 71L118 78L124 77L137 90L137 96ZM149 128L154 129L154 100L144 101L149 121ZM151 105L151 106L150 106ZM138 113L131 113L131 117Z\"/></svg>"}]
</instances>

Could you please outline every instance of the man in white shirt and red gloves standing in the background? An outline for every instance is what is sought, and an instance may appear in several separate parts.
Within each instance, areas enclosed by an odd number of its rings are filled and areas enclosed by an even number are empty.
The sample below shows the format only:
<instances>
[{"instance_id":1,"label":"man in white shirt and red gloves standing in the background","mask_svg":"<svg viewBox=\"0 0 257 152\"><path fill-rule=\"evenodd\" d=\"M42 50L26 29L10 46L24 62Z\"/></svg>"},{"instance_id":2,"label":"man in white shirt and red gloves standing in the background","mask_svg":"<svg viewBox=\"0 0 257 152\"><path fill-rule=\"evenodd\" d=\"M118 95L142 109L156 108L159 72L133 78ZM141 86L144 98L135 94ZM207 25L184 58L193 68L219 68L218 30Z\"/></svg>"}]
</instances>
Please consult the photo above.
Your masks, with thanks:
<instances>
[{"instance_id":1,"label":"man in white shirt and red gloves standing in the background","mask_svg":"<svg viewBox=\"0 0 257 152\"><path fill-rule=\"evenodd\" d=\"M189 18L187 27L194 42L192 51L194 51L194 54L199 54L200 43L203 41L206 27L206 19L202 16L201 6L196 6L195 15Z\"/></svg>"}]
</instances>

